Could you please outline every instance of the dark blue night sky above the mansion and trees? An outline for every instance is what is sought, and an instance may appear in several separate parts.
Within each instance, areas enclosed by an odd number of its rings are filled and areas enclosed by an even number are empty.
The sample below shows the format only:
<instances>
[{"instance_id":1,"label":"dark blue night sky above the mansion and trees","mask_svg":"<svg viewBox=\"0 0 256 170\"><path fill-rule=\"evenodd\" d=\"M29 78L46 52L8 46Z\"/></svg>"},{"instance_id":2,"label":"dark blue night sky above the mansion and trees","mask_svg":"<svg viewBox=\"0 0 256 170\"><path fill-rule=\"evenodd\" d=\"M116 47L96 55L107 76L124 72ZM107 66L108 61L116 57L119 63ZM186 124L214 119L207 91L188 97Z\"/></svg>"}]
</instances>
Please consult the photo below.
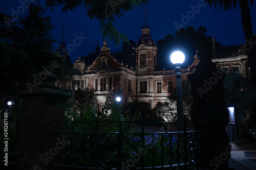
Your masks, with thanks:
<instances>
[{"instance_id":1,"label":"dark blue night sky above the mansion and trees","mask_svg":"<svg viewBox=\"0 0 256 170\"><path fill-rule=\"evenodd\" d=\"M24 0L22 0L24 1ZM32 1L32 0L31 0ZM45 5L45 1L40 1L41 5ZM223 45L233 45L245 43L244 33L242 27L240 9L224 11L220 9L215 10L214 7L209 7L207 4L200 4L203 0L197 1L170 1L170 0L152 0L147 4L147 25L150 26L151 36L156 42L167 34L174 34L176 26L174 23L181 23L185 27L192 26L196 29L199 26L207 27L207 35L213 36L215 34L216 40ZM191 6L201 5L200 11L197 9L193 12ZM0 11L11 15L12 11L18 12L22 10L22 3L17 0L9 0L1 2ZM103 10L102 10L103 11ZM25 14L20 12L20 16ZM253 33L256 33L256 4L250 7ZM70 48L71 61L74 62L78 56L87 55L90 53L90 47L94 51L94 47L99 40L100 47L103 45L102 33L100 33L99 21L90 20L87 12L83 7L77 8L74 11L69 11L67 14L61 13L61 7L55 7L53 11L47 10L47 15L52 17L54 29L52 35L57 43L54 44L58 48L58 42L62 39L62 26L65 23L64 41L67 45L73 44L76 38L75 34L87 37L83 39L80 45L75 46L73 50ZM186 23L182 18L187 16ZM124 12L123 17L116 19L116 28L129 37L129 39L137 42L141 35L141 26L145 24L145 7L141 5L134 10ZM122 46L116 47L115 42L107 40L111 52L120 51ZM77 41L78 42L78 41ZM70 45L71 47L72 45ZM69 49L68 49L69 51ZM191 54L194 56L194 53ZM166 56L169 57L169 56Z\"/></svg>"}]
</instances>

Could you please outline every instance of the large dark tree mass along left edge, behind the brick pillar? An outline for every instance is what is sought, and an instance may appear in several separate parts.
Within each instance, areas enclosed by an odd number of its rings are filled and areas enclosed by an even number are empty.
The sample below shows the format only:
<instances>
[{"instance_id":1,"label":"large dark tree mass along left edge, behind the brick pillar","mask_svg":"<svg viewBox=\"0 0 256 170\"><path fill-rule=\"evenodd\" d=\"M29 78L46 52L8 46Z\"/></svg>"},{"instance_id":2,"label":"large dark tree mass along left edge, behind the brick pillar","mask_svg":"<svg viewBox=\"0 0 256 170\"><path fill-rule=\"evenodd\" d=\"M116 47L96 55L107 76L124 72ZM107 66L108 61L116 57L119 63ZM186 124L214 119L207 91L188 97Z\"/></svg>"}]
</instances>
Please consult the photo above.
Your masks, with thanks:
<instances>
[{"instance_id":1,"label":"large dark tree mass along left edge, behind the brick pillar","mask_svg":"<svg viewBox=\"0 0 256 170\"><path fill-rule=\"evenodd\" d=\"M58 80L71 74L66 60L51 52L52 23L44 14L38 1L30 4L26 16L8 25L8 16L0 14L0 76L5 81L1 84L0 111L7 101L18 101L18 91L37 88L35 79L40 73L54 74ZM53 67L52 62L57 64Z\"/></svg>"}]
</instances>

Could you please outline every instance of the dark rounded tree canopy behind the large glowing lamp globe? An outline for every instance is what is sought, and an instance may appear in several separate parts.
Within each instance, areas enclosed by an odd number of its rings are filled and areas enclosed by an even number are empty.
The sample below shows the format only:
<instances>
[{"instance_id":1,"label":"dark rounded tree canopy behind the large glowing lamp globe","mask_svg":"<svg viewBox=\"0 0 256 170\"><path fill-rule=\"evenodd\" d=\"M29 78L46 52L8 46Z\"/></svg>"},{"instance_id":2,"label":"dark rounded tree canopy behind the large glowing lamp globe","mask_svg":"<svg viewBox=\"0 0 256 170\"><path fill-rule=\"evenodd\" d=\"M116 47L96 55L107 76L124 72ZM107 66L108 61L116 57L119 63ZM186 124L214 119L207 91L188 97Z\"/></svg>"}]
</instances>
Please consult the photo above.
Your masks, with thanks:
<instances>
[{"instance_id":1,"label":"dark rounded tree canopy behind the large glowing lamp globe","mask_svg":"<svg viewBox=\"0 0 256 170\"><path fill-rule=\"evenodd\" d=\"M212 38L206 35L206 27L200 26L197 30L194 27L182 28L174 35L168 34L163 39L157 41L158 55L157 68L162 70L173 69L174 65L170 63L170 54L174 51L182 51L185 55L185 62L182 68L194 61L194 56L198 50L198 57L201 59L212 58ZM220 43L218 42L220 45Z\"/></svg>"}]
</instances>

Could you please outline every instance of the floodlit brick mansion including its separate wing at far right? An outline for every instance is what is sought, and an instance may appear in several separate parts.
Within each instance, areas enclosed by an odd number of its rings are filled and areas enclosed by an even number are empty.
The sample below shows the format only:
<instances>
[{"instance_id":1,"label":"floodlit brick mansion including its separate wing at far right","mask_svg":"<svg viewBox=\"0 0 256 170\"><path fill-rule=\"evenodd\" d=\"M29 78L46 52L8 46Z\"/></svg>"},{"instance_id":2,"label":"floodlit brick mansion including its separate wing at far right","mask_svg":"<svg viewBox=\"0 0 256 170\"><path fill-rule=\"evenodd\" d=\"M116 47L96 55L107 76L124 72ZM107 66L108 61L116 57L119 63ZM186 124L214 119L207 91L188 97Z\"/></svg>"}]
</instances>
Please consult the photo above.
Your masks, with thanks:
<instances>
[{"instance_id":1,"label":"floodlit brick mansion including its separate wing at far right","mask_svg":"<svg viewBox=\"0 0 256 170\"><path fill-rule=\"evenodd\" d=\"M59 86L70 89L93 88L101 105L108 95L113 98L119 96L120 103L123 105L129 102L148 102L154 108L158 102L163 102L176 90L175 70L163 68L162 71L156 71L157 46L148 26L142 27L141 31L142 34L137 43L130 41L130 50L123 50L122 56L125 57L118 56L118 53L111 53L106 41L101 48L97 44L95 53L79 57L73 63L73 70L77 73L73 75L73 80ZM61 48L65 50L65 43L60 44L59 50ZM233 49L230 51L228 48L222 48L224 50L218 53L221 49L216 49L214 38L212 62L216 63L219 69L238 71L247 76L247 56L230 56L229 53L233 53ZM197 55L194 58L194 62L181 71L183 86L187 81L187 75L194 72L199 63Z\"/></svg>"}]
</instances>

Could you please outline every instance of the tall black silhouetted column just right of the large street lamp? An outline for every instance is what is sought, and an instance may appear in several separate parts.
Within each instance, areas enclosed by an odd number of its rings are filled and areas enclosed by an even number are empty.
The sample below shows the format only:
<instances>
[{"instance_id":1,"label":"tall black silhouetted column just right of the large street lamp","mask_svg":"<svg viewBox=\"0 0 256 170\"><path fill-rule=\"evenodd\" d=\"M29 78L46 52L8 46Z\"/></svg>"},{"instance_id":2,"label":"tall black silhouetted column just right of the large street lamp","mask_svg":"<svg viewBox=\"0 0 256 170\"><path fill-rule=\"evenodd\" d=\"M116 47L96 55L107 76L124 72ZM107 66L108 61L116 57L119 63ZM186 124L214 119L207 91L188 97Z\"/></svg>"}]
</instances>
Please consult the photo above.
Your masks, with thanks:
<instances>
[{"instance_id":1,"label":"tall black silhouetted column just right of the large street lamp","mask_svg":"<svg viewBox=\"0 0 256 170\"><path fill-rule=\"evenodd\" d=\"M191 82L193 106L191 120L196 130L208 130L196 136L197 169L228 169L231 145L226 133L228 111L223 97L225 74L216 69L210 58L202 58L193 74L187 76Z\"/></svg>"}]
</instances>

